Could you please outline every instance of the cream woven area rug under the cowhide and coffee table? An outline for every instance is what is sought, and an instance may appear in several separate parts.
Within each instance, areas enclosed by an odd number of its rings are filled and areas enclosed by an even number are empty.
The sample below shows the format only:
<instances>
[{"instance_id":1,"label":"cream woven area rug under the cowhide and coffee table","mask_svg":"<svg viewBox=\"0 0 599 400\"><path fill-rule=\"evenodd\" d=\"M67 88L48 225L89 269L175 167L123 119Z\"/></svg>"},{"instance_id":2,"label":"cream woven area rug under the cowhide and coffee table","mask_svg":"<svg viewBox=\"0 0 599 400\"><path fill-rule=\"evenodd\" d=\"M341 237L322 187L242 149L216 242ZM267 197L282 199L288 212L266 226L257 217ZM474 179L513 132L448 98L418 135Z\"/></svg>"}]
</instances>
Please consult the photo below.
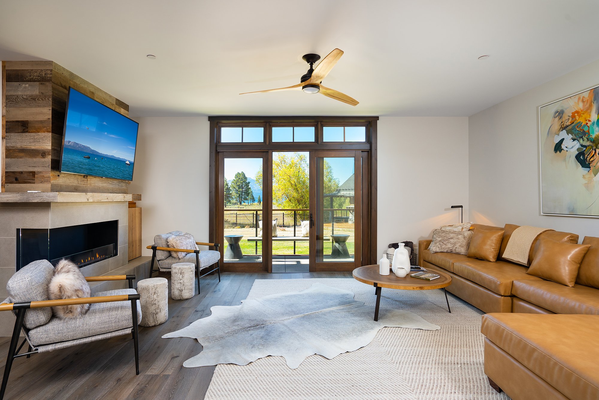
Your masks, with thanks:
<instances>
[{"instance_id":1,"label":"cream woven area rug under the cowhide and coffee table","mask_svg":"<svg viewBox=\"0 0 599 400\"><path fill-rule=\"evenodd\" d=\"M256 279L248 299L298 291L315 282L349 290L372 305L374 288L352 278ZM415 312L440 330L385 327L366 347L332 360L308 357L289 369L283 357L248 365L220 364L205 399L509 399L489 386L483 372L483 314L443 290L383 288L381 307Z\"/></svg>"}]
</instances>

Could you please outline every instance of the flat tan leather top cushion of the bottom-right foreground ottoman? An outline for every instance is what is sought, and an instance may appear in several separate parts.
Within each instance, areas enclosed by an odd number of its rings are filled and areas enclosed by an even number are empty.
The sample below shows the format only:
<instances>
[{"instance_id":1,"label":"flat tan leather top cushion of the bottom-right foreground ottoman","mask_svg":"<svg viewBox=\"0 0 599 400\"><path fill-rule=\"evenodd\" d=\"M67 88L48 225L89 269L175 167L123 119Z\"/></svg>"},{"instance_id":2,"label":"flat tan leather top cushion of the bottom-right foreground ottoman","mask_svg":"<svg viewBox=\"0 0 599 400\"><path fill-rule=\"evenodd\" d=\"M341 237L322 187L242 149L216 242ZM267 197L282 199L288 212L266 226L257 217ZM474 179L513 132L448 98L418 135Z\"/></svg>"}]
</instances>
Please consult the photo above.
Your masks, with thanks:
<instances>
[{"instance_id":1,"label":"flat tan leather top cushion of the bottom-right foreground ottoman","mask_svg":"<svg viewBox=\"0 0 599 400\"><path fill-rule=\"evenodd\" d=\"M568 399L599 399L599 316L486 314L480 331Z\"/></svg>"}]
</instances>

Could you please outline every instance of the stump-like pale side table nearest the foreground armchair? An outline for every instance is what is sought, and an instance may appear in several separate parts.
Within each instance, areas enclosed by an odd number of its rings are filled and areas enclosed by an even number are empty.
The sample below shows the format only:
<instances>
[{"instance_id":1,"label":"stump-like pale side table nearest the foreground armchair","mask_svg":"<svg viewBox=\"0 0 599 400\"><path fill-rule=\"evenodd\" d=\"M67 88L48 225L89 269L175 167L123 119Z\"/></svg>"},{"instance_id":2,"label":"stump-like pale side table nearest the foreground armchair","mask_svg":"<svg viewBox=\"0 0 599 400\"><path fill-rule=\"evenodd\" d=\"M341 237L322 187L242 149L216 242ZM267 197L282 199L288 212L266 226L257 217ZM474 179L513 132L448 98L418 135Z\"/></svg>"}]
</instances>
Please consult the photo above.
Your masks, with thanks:
<instances>
[{"instance_id":1,"label":"stump-like pale side table nearest the foreground armchair","mask_svg":"<svg viewBox=\"0 0 599 400\"><path fill-rule=\"evenodd\" d=\"M137 282L141 302L141 326L156 326L168 320L168 281L165 278Z\"/></svg>"}]
</instances>

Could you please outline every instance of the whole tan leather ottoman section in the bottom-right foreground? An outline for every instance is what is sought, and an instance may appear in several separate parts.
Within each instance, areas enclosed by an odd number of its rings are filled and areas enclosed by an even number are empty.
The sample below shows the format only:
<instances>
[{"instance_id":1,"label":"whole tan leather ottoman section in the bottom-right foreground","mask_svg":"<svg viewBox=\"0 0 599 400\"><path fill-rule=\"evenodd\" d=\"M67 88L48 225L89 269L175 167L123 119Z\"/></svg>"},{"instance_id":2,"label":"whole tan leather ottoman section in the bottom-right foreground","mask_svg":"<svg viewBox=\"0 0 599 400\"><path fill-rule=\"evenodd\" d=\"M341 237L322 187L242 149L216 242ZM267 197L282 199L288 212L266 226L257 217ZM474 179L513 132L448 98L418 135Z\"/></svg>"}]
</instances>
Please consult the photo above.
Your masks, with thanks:
<instances>
[{"instance_id":1,"label":"whole tan leather ottoman section in the bottom-right foreground","mask_svg":"<svg viewBox=\"0 0 599 400\"><path fill-rule=\"evenodd\" d=\"M599 315L485 314L485 374L514 400L599 399Z\"/></svg>"}]
</instances>

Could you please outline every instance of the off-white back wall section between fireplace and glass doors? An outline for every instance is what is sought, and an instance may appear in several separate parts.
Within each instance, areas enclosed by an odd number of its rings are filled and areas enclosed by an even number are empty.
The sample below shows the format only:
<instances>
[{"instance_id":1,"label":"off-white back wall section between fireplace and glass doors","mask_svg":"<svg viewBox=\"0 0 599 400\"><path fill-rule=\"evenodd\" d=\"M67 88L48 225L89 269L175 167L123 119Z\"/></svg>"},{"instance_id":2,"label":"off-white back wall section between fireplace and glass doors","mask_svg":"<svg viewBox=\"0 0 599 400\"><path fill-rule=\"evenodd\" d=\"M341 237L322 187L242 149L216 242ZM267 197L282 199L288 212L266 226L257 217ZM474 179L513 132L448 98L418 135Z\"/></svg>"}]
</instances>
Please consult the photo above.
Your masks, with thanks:
<instances>
[{"instance_id":1,"label":"off-white back wall section between fireplace and glass doors","mask_svg":"<svg viewBox=\"0 0 599 400\"><path fill-rule=\"evenodd\" d=\"M173 230L208 241L207 117L142 117L129 193L141 193L142 254Z\"/></svg>"}]
</instances>

